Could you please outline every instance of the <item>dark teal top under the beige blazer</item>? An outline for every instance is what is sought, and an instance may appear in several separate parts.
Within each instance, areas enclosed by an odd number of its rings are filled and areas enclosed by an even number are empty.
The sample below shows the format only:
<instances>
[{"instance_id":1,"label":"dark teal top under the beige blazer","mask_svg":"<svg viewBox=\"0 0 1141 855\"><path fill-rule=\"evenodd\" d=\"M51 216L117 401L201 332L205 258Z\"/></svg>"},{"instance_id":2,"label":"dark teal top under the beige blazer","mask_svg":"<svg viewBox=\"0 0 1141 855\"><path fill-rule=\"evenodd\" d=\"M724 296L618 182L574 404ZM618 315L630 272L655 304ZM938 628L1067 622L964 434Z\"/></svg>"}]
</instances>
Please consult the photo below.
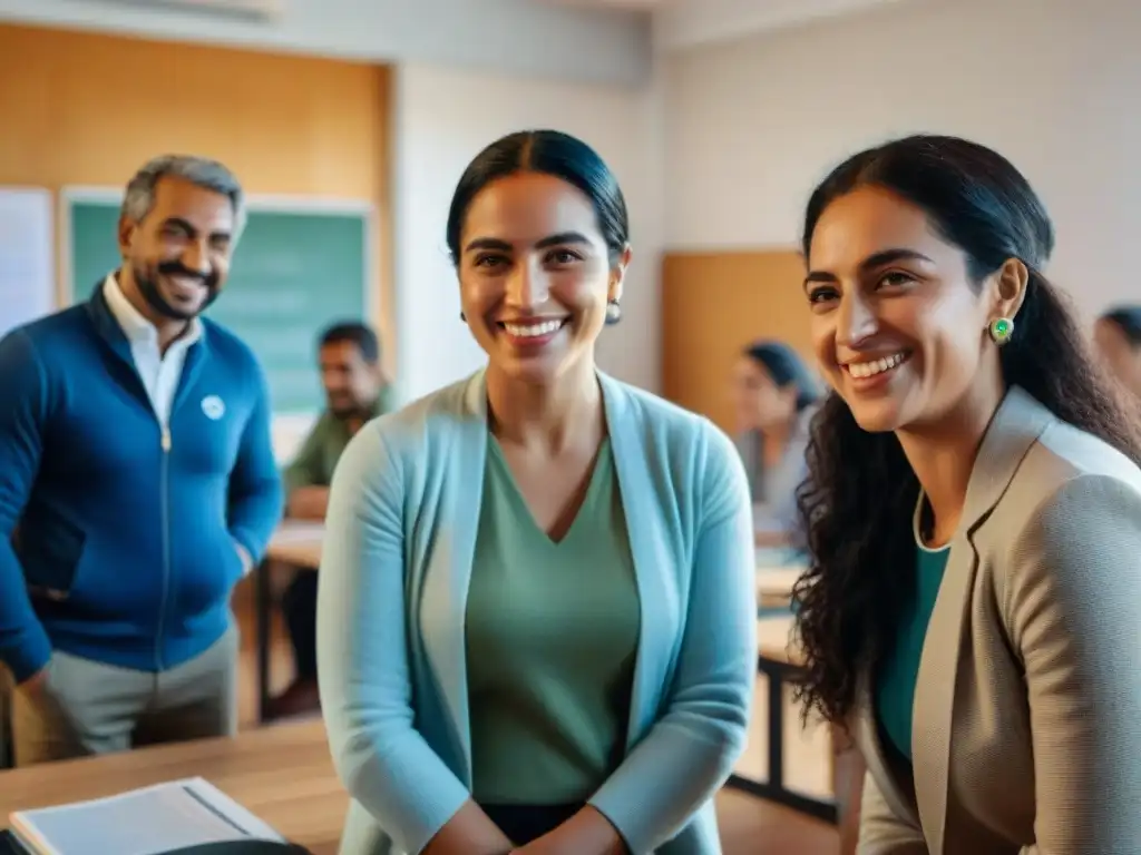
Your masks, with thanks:
<instances>
[{"instance_id":1,"label":"dark teal top under the beige blazer","mask_svg":"<svg viewBox=\"0 0 1141 855\"><path fill-rule=\"evenodd\" d=\"M915 600L903 614L896 645L883 661L875 685L875 711L883 735L909 763L912 759L912 715L915 708L915 681L923 657L923 642L934 603L942 584L950 546L932 549L923 545L919 535L919 515L923 496L916 507L915 543Z\"/></svg>"}]
</instances>

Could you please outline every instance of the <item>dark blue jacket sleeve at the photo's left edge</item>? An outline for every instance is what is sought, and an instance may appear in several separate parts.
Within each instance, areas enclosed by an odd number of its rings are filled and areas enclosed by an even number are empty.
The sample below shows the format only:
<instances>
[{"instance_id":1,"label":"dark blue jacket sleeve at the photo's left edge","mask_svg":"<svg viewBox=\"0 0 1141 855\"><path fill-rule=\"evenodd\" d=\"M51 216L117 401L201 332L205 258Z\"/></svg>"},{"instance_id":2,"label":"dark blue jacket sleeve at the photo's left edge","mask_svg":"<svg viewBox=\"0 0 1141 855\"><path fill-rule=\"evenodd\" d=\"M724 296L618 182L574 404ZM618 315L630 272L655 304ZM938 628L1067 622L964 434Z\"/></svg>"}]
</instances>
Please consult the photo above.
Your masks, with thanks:
<instances>
[{"instance_id":1,"label":"dark blue jacket sleeve at the photo's left edge","mask_svg":"<svg viewBox=\"0 0 1141 855\"><path fill-rule=\"evenodd\" d=\"M0 340L0 660L23 683L51 658L11 546L40 467L48 410L43 366L27 333Z\"/></svg>"}]
</instances>

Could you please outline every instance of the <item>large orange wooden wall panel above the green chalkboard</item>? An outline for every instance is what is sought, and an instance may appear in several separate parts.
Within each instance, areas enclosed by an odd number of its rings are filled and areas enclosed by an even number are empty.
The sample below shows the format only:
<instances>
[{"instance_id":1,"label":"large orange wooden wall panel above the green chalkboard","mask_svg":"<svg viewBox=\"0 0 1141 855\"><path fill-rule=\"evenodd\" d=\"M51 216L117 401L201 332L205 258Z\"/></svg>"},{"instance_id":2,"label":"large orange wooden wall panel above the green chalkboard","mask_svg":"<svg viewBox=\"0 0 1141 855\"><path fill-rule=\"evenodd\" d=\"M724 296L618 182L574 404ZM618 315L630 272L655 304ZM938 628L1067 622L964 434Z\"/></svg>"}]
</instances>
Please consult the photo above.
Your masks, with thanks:
<instances>
[{"instance_id":1,"label":"large orange wooden wall panel above the green chalkboard","mask_svg":"<svg viewBox=\"0 0 1141 855\"><path fill-rule=\"evenodd\" d=\"M121 187L153 155L188 152L225 162L249 193L372 202L372 320L391 355L389 79L373 65L0 25L0 184Z\"/></svg>"}]
</instances>

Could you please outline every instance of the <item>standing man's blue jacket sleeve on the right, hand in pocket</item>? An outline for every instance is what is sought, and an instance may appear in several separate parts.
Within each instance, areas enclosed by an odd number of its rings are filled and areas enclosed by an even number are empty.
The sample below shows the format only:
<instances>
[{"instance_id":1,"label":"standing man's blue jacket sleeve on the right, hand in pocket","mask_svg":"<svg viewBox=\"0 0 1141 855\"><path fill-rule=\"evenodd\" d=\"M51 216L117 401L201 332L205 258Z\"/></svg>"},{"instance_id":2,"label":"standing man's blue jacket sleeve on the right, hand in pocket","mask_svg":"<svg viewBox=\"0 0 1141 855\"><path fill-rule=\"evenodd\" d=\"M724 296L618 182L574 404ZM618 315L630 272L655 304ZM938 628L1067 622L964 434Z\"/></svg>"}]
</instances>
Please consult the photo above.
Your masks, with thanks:
<instances>
[{"instance_id":1,"label":"standing man's blue jacket sleeve on the right, hand in pocket","mask_svg":"<svg viewBox=\"0 0 1141 855\"><path fill-rule=\"evenodd\" d=\"M237 461L229 475L229 534L253 559L265 555L281 522L284 490L270 431L269 389L254 363L257 402L242 431Z\"/></svg>"}]
</instances>

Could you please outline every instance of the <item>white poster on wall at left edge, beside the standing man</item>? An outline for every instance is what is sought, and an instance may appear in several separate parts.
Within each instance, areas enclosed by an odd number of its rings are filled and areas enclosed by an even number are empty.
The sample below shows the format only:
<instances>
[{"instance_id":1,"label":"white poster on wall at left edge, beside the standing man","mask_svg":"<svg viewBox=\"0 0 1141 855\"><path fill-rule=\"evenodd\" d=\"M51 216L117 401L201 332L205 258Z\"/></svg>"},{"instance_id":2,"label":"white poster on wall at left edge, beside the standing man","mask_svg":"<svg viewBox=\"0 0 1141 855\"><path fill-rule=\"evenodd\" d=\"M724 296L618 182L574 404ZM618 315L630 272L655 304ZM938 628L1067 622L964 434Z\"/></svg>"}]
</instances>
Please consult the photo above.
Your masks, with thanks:
<instances>
[{"instance_id":1,"label":"white poster on wall at left edge, beside the standing man","mask_svg":"<svg viewBox=\"0 0 1141 855\"><path fill-rule=\"evenodd\" d=\"M56 304L51 193L0 187L0 336Z\"/></svg>"}]
</instances>

